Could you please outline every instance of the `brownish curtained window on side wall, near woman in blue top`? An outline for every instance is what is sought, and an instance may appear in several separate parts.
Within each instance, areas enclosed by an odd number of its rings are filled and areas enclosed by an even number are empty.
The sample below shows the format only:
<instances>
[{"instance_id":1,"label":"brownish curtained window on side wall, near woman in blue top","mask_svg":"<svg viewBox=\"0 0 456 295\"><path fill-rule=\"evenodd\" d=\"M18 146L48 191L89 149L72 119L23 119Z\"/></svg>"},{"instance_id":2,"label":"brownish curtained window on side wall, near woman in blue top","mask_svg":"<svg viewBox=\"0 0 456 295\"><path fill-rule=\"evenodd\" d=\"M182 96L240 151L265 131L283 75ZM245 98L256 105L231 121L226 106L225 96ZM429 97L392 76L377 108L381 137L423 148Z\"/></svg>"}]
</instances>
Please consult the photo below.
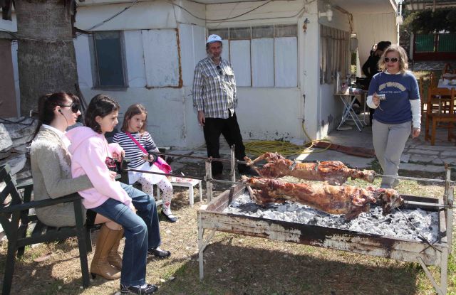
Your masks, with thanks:
<instances>
[{"instance_id":1,"label":"brownish curtained window on side wall, near woman in blue top","mask_svg":"<svg viewBox=\"0 0 456 295\"><path fill-rule=\"evenodd\" d=\"M350 33L320 26L320 84L333 83L337 73L350 73Z\"/></svg>"}]
</instances>

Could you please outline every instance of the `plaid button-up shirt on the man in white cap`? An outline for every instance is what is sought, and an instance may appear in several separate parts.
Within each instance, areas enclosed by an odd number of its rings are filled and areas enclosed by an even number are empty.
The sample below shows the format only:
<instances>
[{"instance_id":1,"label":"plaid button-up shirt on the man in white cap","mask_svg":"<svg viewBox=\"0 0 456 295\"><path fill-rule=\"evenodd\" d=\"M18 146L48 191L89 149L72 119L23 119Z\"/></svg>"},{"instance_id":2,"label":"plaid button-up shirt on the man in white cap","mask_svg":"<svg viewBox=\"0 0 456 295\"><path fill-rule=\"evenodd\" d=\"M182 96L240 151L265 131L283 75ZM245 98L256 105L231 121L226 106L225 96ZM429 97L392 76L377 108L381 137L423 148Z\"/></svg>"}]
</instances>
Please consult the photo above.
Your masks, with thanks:
<instances>
[{"instance_id":1,"label":"plaid button-up shirt on the man in white cap","mask_svg":"<svg viewBox=\"0 0 456 295\"><path fill-rule=\"evenodd\" d=\"M200 60L193 79L193 106L208 118L229 118L229 109L237 106L236 80L229 61L217 65L211 58Z\"/></svg>"}]
</instances>

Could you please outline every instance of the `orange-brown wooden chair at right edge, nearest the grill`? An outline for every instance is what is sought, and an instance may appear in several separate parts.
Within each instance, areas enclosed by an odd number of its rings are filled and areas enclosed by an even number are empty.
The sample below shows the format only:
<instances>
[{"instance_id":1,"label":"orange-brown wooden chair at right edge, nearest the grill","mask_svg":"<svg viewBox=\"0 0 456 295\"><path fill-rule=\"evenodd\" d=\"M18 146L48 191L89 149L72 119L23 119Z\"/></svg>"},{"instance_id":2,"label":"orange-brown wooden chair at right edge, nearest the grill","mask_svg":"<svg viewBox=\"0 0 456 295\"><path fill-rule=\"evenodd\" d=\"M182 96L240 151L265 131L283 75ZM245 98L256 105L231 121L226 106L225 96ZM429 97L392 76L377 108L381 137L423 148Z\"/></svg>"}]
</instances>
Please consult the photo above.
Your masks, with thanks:
<instances>
[{"instance_id":1,"label":"orange-brown wooden chair at right edge, nearest the grill","mask_svg":"<svg viewBox=\"0 0 456 295\"><path fill-rule=\"evenodd\" d=\"M448 107L446 107L448 104ZM431 105L440 105L437 110L433 110ZM438 123L447 123L448 141L455 139L452 133L453 124L456 123L455 114L455 88L429 88L427 90L427 110L426 110L426 127L425 140L430 139L430 144L435 144L435 132ZM432 122L432 131L429 134L429 127Z\"/></svg>"}]
</instances>

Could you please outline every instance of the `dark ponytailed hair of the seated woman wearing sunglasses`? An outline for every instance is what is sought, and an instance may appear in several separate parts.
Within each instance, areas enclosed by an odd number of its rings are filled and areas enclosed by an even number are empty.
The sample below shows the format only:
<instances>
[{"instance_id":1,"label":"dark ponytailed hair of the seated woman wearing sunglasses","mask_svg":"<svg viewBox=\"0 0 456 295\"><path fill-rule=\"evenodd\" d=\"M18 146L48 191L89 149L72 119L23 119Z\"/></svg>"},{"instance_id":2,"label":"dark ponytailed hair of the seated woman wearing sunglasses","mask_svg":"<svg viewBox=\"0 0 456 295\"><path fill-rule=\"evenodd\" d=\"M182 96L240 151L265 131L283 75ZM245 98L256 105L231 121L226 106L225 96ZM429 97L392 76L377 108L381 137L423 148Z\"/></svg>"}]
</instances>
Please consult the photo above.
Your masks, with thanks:
<instances>
[{"instance_id":1,"label":"dark ponytailed hair of the seated woman wearing sunglasses","mask_svg":"<svg viewBox=\"0 0 456 295\"><path fill-rule=\"evenodd\" d=\"M67 104L68 100L71 100L71 103L73 104L81 103L79 97L68 92L49 93L38 98L38 126L33 134L33 139L40 131L41 125L51 124L56 117L54 109L56 109L58 105Z\"/></svg>"}]
</instances>

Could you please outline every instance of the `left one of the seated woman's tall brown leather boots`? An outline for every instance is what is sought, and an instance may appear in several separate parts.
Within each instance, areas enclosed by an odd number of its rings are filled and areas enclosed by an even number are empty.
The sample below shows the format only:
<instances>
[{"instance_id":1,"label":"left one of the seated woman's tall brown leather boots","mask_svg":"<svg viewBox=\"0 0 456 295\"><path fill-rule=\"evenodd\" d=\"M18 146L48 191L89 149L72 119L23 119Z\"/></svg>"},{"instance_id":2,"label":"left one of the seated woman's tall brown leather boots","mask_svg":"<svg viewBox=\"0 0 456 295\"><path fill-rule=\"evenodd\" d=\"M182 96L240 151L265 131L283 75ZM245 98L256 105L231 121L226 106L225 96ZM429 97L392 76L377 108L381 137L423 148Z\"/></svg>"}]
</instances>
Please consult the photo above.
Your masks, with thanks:
<instances>
[{"instance_id":1,"label":"left one of the seated woman's tall brown leather boots","mask_svg":"<svg viewBox=\"0 0 456 295\"><path fill-rule=\"evenodd\" d=\"M120 271L112 267L108 262L108 254L118 240L118 232L118 230L110 230L105 224L101 226L98 233L97 245L95 246L95 254L90 264L92 279L95 279L97 274L105 279L120 278Z\"/></svg>"}]
</instances>

